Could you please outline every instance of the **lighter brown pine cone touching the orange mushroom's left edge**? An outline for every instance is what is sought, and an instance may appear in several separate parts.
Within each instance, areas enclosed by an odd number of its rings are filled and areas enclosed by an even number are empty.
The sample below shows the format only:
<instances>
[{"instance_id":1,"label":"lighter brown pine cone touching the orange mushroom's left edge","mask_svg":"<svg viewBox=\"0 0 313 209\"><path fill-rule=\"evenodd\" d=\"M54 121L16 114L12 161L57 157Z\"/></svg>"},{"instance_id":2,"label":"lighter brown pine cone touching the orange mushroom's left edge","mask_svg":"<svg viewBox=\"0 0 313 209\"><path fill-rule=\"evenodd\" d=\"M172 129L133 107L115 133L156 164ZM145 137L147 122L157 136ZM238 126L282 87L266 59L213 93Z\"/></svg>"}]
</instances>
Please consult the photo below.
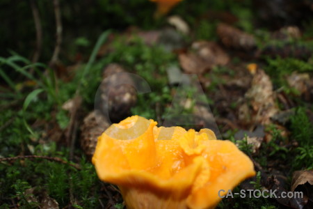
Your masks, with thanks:
<instances>
[{"instance_id":1,"label":"lighter brown pine cone touching the orange mushroom's left edge","mask_svg":"<svg viewBox=\"0 0 313 209\"><path fill-rule=\"evenodd\" d=\"M91 160L93 153L95 153L98 137L109 125L109 121L99 111L92 111L83 119L83 125L81 125L81 149L88 157L88 160Z\"/></svg>"}]
</instances>

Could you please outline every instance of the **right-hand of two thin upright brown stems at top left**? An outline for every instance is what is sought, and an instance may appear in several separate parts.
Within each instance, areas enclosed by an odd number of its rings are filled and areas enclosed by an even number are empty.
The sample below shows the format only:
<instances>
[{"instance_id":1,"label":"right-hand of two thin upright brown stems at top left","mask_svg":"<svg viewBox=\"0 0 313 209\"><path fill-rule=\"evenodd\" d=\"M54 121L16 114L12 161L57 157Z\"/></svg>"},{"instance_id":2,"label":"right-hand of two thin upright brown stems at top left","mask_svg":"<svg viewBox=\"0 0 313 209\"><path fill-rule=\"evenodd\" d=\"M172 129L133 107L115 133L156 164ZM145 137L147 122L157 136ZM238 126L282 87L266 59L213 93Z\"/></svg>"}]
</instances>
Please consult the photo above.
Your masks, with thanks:
<instances>
[{"instance_id":1,"label":"right-hand of two thin upright brown stems at top left","mask_svg":"<svg viewBox=\"0 0 313 209\"><path fill-rule=\"evenodd\" d=\"M62 21L61 10L58 0L54 0L54 14L56 15L56 47L54 47L54 54L52 55L49 66L51 67L58 61L58 54L61 49L62 43Z\"/></svg>"}]
</instances>

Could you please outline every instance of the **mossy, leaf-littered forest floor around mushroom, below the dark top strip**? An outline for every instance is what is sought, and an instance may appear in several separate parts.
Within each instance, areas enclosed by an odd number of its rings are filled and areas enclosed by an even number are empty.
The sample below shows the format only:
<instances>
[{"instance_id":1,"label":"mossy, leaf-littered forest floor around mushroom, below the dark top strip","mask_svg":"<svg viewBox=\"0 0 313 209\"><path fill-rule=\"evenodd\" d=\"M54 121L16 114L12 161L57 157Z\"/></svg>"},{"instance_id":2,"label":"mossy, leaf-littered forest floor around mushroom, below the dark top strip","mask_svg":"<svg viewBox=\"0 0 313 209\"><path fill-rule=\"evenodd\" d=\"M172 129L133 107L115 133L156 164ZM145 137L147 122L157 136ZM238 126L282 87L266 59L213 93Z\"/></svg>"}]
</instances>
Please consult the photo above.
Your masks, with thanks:
<instances>
[{"instance_id":1,"label":"mossy, leaf-littered forest floor around mushroom, below the dark top strip","mask_svg":"<svg viewBox=\"0 0 313 209\"><path fill-rule=\"evenodd\" d=\"M179 16L163 17L152 29L112 28L94 46L80 37L67 62L62 53L50 63L16 52L0 57L0 208L125 208L118 187L102 183L90 162L109 124L97 129L97 118L90 119L97 99L113 102L113 122L139 115L209 127L233 141L257 171L234 192L304 193L234 196L217 208L313 208L313 22L257 27L250 8L234 8L213 7L193 20L178 6ZM150 93L103 82L119 70L141 77ZM97 93L106 88L113 93L103 99ZM181 90L183 99L172 102ZM133 99L121 102L126 93ZM194 114L189 125L168 117L182 113Z\"/></svg>"}]
</instances>

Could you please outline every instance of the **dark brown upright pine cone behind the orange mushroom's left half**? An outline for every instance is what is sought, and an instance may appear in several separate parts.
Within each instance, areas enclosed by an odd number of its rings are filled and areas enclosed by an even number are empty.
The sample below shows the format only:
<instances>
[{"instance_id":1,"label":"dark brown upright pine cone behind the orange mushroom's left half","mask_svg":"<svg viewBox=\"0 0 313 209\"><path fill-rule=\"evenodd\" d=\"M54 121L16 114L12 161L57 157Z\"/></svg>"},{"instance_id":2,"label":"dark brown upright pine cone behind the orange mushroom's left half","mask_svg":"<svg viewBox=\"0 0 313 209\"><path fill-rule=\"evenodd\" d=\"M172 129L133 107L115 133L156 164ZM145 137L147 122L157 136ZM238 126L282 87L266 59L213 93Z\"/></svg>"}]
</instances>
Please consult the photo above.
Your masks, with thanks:
<instances>
[{"instance_id":1,"label":"dark brown upright pine cone behind the orange mushroom's left half","mask_svg":"<svg viewBox=\"0 0 313 209\"><path fill-rule=\"evenodd\" d=\"M137 100L134 81L122 66L110 64L104 69L104 81L100 86L99 110L103 114L109 112L112 122L120 122L130 115L131 107L134 107ZM117 85L120 84L120 85Z\"/></svg>"}]
</instances>

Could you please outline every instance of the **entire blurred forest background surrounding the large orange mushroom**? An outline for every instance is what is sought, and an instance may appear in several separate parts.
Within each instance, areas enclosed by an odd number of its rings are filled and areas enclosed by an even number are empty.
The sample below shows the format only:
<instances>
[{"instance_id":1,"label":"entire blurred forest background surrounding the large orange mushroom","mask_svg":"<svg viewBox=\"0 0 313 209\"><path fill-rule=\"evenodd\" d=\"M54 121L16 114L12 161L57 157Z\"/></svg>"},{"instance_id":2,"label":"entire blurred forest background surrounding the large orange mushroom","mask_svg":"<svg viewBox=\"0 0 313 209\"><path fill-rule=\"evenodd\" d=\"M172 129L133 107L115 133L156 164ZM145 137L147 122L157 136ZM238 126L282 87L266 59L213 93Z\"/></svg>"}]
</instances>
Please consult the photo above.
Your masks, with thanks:
<instances>
[{"instance_id":1,"label":"entire blurred forest background surrounding the large orange mushroom","mask_svg":"<svg viewBox=\"0 0 313 209\"><path fill-rule=\"evenodd\" d=\"M313 208L313 2L162 2L0 0L0 208L125 208L90 160L131 115L234 142L235 192L304 192L217 208Z\"/></svg>"}]
</instances>

